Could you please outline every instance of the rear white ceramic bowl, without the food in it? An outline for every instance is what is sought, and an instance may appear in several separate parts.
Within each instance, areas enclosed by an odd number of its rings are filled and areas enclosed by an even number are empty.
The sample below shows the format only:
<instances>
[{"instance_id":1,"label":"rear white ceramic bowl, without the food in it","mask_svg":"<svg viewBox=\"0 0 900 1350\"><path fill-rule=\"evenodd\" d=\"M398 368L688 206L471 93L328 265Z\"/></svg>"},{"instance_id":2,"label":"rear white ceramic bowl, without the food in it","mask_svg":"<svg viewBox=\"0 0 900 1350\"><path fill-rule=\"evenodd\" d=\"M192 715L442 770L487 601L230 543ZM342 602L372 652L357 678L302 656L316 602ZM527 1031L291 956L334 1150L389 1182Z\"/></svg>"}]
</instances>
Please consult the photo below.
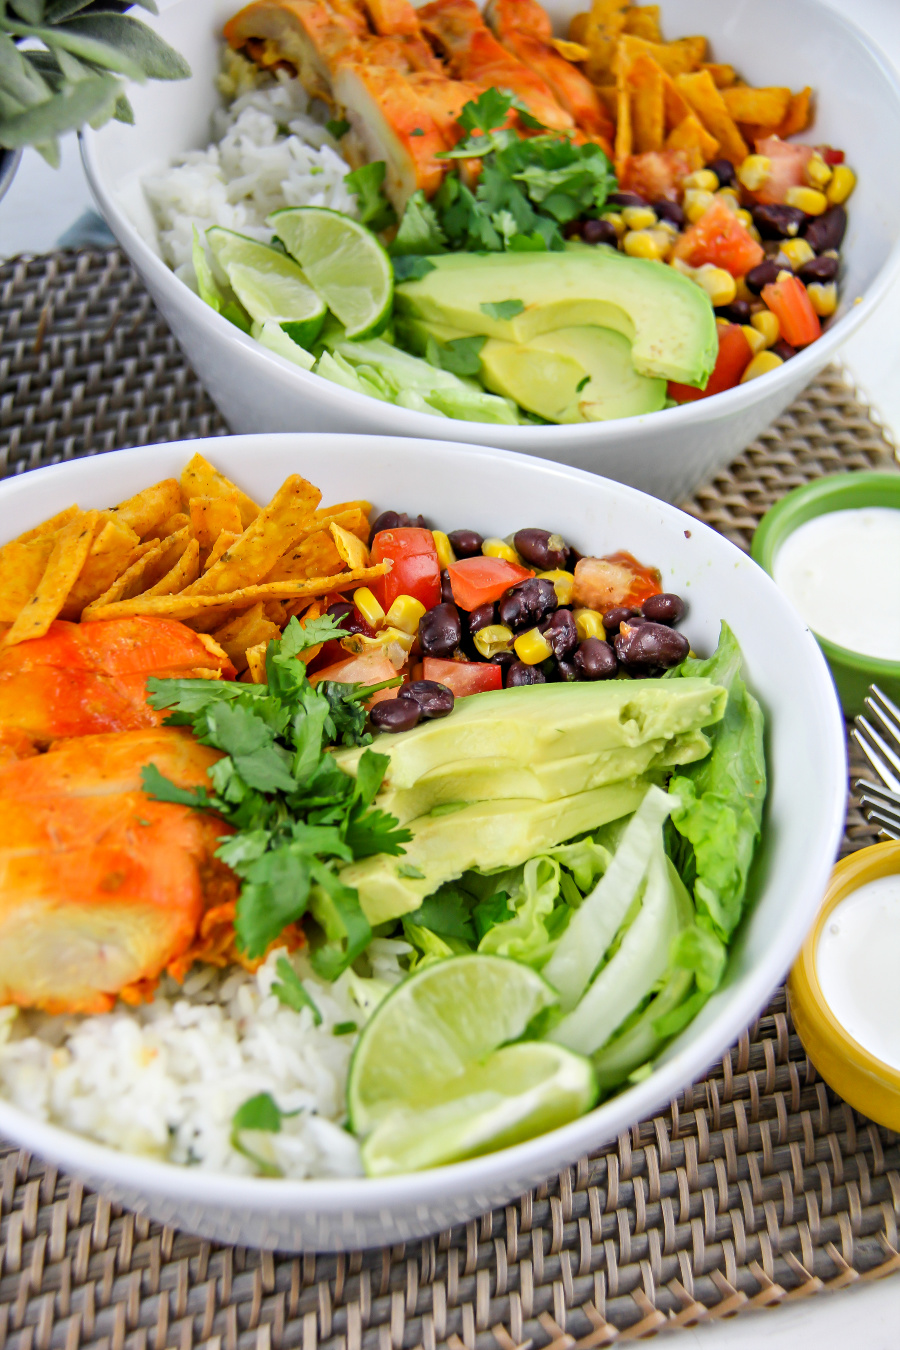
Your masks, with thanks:
<instances>
[{"instance_id":1,"label":"rear white ceramic bowl, without the food in it","mask_svg":"<svg viewBox=\"0 0 900 1350\"><path fill-rule=\"evenodd\" d=\"M545 0L560 32L587 0ZM541 455L681 501L745 448L796 398L865 320L900 263L900 86L866 38L822 0L665 0L671 36L703 32L715 59L752 84L811 85L808 139L841 146L858 173L843 244L841 310L816 343L766 375L664 413L578 427L487 427L394 408L298 370L220 315L166 267L139 177L206 146L224 20L240 0L171 0L157 23L194 72L179 84L135 89L136 126L86 131L88 178L116 238L143 277L225 421L246 431L344 431L429 436ZM807 135L807 134L804 134Z\"/></svg>"}]
</instances>

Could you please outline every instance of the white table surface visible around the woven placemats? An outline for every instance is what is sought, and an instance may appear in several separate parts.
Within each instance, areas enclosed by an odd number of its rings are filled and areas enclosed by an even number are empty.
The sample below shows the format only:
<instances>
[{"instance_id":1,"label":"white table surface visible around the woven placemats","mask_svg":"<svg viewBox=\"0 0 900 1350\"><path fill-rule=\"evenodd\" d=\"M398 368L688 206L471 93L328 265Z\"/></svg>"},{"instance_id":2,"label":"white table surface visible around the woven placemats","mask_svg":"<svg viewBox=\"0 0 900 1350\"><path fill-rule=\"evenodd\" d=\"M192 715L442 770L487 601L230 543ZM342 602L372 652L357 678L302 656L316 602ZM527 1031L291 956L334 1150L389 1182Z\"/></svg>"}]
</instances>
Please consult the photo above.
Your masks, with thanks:
<instances>
[{"instance_id":1,"label":"white table surface visible around the woven placemats","mask_svg":"<svg viewBox=\"0 0 900 1350\"><path fill-rule=\"evenodd\" d=\"M900 0L826 3L864 28L900 70ZM874 127L873 134L877 134ZM35 151L26 151L12 188L0 202L0 258L50 251L92 207L74 136L63 142L58 170L47 167ZM900 278L862 332L846 344L842 358L876 416L900 443ZM673 1336L672 1345L696 1350L760 1350L762 1338L766 1350L804 1350L807 1346L815 1350L900 1350L900 1276L687 1330Z\"/></svg>"}]
</instances>

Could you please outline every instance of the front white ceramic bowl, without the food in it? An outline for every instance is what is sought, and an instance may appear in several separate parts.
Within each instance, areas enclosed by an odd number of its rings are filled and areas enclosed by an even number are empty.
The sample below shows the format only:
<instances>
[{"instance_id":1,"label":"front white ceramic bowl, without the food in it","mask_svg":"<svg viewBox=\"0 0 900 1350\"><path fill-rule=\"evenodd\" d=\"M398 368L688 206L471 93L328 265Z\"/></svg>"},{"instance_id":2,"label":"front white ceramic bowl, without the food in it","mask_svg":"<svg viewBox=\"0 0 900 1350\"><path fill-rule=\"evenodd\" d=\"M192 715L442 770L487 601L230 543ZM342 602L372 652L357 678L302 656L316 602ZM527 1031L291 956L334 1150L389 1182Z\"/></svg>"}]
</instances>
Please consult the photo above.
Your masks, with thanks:
<instances>
[{"instance_id":1,"label":"front white ceramic bowl, without the food in it","mask_svg":"<svg viewBox=\"0 0 900 1350\"><path fill-rule=\"evenodd\" d=\"M706 525L631 487L561 464L479 446L368 436L236 436L125 450L0 483L0 540L77 501L121 501L178 475L200 450L258 498L287 473L325 501L424 512L447 529L560 531L583 551L629 548L688 601L695 648L726 620L743 649L768 725L770 794L750 906L723 984L653 1073L590 1115L502 1153L378 1181L224 1177L130 1157L43 1125L0 1100L0 1137L15 1139L113 1199L220 1242L341 1250L436 1233L502 1204L652 1114L703 1071L760 1011L822 902L845 814L843 721L811 633L770 578Z\"/></svg>"}]
</instances>

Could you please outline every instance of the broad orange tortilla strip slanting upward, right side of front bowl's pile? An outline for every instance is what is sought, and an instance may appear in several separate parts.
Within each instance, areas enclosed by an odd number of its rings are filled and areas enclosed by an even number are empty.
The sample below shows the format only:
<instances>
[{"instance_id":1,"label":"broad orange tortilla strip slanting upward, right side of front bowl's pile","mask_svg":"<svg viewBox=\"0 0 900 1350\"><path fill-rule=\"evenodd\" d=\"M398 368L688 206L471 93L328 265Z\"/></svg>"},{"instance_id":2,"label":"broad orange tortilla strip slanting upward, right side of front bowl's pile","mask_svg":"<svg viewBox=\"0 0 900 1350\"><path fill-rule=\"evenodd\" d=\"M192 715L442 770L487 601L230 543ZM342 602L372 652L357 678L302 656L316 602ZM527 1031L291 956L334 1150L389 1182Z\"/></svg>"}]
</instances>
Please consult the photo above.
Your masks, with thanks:
<instances>
[{"instance_id":1,"label":"broad orange tortilla strip slanting upward, right side of front bowl's pile","mask_svg":"<svg viewBox=\"0 0 900 1350\"><path fill-rule=\"evenodd\" d=\"M320 500L317 487L300 474L291 474L240 539L193 583L192 595L223 595L269 576L282 554L302 533Z\"/></svg>"}]
</instances>

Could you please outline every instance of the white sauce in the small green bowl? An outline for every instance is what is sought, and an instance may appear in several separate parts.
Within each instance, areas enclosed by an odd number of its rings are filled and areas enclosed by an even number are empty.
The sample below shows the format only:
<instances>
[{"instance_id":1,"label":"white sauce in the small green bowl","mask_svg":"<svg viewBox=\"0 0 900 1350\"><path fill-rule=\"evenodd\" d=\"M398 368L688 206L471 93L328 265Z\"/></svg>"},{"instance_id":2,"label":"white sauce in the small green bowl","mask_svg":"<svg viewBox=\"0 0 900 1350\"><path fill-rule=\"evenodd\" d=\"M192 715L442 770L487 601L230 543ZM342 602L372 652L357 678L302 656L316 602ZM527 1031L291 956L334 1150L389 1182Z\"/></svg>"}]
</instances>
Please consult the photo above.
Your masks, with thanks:
<instances>
[{"instance_id":1,"label":"white sauce in the small green bowl","mask_svg":"<svg viewBox=\"0 0 900 1350\"><path fill-rule=\"evenodd\" d=\"M806 521L779 549L773 575L819 637L900 662L900 510L862 506Z\"/></svg>"}]
</instances>

